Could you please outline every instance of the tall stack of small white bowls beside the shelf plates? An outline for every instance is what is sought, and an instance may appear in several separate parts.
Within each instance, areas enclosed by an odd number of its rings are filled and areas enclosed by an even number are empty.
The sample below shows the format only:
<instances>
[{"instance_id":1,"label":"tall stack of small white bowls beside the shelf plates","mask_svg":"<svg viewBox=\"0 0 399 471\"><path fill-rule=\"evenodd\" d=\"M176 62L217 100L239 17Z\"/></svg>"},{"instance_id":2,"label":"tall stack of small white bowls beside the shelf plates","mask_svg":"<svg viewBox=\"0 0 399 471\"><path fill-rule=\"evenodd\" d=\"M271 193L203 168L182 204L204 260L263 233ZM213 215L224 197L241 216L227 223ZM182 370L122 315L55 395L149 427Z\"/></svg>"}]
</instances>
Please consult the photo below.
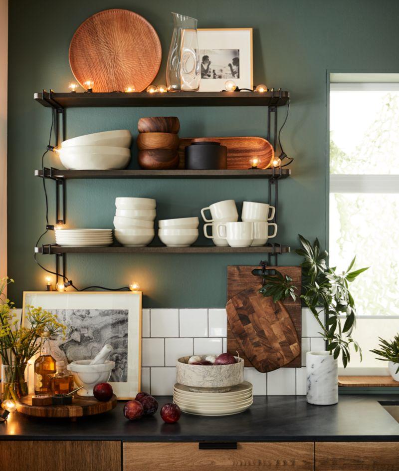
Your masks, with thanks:
<instances>
[{"instance_id":1,"label":"tall stack of small white bowls beside the shelf plates","mask_svg":"<svg viewBox=\"0 0 399 471\"><path fill-rule=\"evenodd\" d=\"M116 198L115 238L122 245L144 247L155 236L157 201L152 198Z\"/></svg>"}]
</instances>

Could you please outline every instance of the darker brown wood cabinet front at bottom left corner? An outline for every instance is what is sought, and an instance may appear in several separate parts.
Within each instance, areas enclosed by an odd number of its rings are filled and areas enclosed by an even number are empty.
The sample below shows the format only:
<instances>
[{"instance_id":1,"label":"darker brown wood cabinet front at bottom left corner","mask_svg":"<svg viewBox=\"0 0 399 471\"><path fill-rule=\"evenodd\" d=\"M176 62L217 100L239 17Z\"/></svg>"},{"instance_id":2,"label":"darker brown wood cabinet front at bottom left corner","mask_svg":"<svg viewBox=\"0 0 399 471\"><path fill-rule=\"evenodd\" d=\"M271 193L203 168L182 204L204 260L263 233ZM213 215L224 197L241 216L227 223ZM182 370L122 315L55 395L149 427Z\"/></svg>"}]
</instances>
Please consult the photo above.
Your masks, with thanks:
<instances>
[{"instance_id":1,"label":"darker brown wood cabinet front at bottom left corner","mask_svg":"<svg viewBox=\"0 0 399 471\"><path fill-rule=\"evenodd\" d=\"M1 471L120 471L121 442L0 441Z\"/></svg>"}]
</instances>

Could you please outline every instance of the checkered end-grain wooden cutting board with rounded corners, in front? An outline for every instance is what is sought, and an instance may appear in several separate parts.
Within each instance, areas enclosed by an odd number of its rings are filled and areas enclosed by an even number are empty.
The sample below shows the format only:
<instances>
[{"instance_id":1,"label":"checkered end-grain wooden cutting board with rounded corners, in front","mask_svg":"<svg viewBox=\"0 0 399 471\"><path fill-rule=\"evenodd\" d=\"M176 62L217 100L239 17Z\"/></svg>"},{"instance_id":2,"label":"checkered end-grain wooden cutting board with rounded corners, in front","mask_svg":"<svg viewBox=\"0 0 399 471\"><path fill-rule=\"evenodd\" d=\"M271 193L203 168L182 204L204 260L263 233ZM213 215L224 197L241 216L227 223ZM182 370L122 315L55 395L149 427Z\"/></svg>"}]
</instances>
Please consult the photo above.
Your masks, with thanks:
<instances>
[{"instance_id":1,"label":"checkered end-grain wooden cutting board with rounded corners, in front","mask_svg":"<svg viewBox=\"0 0 399 471\"><path fill-rule=\"evenodd\" d=\"M261 284L227 301L227 319L236 341L261 373L281 368L300 353L298 336L284 304L259 293Z\"/></svg>"}]
</instances>

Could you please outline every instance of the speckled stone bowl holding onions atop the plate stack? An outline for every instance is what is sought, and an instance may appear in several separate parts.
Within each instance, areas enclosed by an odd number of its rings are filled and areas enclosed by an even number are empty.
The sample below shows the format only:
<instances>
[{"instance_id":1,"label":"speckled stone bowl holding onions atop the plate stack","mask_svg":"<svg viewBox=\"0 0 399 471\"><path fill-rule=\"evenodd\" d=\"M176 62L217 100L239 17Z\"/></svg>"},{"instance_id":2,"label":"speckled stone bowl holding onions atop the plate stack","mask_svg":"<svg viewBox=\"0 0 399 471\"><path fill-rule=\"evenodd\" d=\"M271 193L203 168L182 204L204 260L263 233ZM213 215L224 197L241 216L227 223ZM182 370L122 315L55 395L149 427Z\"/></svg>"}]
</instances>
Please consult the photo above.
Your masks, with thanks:
<instances>
[{"instance_id":1,"label":"speckled stone bowl holding onions atop the plate stack","mask_svg":"<svg viewBox=\"0 0 399 471\"><path fill-rule=\"evenodd\" d=\"M200 355L202 359L208 355ZM190 356L176 362L176 380L196 393L225 393L244 381L244 360L232 365L189 365ZM238 357L235 357L236 359Z\"/></svg>"}]
</instances>

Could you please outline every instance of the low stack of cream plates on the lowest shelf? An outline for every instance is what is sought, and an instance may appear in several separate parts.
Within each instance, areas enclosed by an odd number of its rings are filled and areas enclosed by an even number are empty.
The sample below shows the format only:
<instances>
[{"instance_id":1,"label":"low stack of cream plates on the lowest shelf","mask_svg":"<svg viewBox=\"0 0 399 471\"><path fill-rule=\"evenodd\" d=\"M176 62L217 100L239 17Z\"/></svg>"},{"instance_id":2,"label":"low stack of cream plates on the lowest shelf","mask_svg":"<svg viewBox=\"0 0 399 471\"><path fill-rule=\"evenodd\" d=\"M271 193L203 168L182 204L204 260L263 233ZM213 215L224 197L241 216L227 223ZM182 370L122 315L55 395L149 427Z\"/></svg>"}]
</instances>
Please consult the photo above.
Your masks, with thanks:
<instances>
[{"instance_id":1,"label":"low stack of cream plates on the lowest shelf","mask_svg":"<svg viewBox=\"0 0 399 471\"><path fill-rule=\"evenodd\" d=\"M104 247L113 242L112 229L56 229L55 241L64 247Z\"/></svg>"}]
</instances>

